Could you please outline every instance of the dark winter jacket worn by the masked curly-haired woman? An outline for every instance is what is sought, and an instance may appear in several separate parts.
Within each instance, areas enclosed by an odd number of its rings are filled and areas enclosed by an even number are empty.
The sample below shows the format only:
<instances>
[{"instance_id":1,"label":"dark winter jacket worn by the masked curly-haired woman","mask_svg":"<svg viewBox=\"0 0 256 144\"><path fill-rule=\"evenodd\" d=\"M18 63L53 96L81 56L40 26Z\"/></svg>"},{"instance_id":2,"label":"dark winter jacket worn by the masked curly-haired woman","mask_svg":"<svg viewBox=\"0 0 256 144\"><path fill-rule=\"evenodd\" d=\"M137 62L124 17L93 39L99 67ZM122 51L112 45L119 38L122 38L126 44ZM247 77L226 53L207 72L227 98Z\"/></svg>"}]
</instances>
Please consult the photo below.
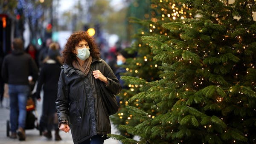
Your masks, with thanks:
<instances>
[{"instance_id":1,"label":"dark winter jacket worn by the masked curly-haired woman","mask_svg":"<svg viewBox=\"0 0 256 144\"><path fill-rule=\"evenodd\" d=\"M108 79L108 86L93 77L93 70L100 70ZM93 135L111 133L111 124L102 101L100 84L117 95L121 85L110 66L102 60L93 59L88 75L64 64L58 81L56 109L59 121L69 120L73 142L80 143Z\"/></svg>"}]
</instances>

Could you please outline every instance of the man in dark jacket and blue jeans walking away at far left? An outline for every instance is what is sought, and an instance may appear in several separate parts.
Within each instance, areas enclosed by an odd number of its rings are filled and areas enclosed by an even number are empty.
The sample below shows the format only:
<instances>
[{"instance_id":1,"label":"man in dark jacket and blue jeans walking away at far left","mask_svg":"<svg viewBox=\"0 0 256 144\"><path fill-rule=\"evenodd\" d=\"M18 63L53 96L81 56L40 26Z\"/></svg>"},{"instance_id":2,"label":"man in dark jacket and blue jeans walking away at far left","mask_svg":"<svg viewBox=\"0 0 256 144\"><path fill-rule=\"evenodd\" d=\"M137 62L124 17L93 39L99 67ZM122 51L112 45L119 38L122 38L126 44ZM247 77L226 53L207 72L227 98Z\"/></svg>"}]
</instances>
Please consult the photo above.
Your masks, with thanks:
<instances>
[{"instance_id":1,"label":"man in dark jacket and blue jeans walking away at far left","mask_svg":"<svg viewBox=\"0 0 256 144\"><path fill-rule=\"evenodd\" d=\"M6 55L2 65L2 78L9 86L10 97L10 138L24 141L26 138L24 128L26 125L26 103L30 94L29 75L36 80L38 68L35 60L24 52L23 41L15 38L12 42L12 53ZM16 135L17 130L17 135Z\"/></svg>"}]
</instances>

